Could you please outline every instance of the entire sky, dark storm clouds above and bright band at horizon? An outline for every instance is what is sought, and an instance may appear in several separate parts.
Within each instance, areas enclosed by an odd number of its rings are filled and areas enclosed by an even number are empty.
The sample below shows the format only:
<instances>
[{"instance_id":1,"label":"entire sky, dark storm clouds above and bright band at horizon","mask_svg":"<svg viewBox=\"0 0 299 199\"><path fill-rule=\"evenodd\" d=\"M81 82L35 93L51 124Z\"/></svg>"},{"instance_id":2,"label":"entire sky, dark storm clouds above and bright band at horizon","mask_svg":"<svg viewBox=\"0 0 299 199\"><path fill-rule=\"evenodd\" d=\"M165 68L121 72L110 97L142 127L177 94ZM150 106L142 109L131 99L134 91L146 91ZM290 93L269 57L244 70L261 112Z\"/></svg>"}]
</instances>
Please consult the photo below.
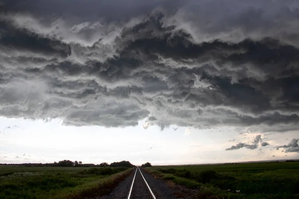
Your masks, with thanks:
<instances>
[{"instance_id":1,"label":"entire sky, dark storm clouds above and bright band at horizon","mask_svg":"<svg viewBox=\"0 0 299 199\"><path fill-rule=\"evenodd\" d=\"M0 0L0 163L299 158L296 0Z\"/></svg>"}]
</instances>

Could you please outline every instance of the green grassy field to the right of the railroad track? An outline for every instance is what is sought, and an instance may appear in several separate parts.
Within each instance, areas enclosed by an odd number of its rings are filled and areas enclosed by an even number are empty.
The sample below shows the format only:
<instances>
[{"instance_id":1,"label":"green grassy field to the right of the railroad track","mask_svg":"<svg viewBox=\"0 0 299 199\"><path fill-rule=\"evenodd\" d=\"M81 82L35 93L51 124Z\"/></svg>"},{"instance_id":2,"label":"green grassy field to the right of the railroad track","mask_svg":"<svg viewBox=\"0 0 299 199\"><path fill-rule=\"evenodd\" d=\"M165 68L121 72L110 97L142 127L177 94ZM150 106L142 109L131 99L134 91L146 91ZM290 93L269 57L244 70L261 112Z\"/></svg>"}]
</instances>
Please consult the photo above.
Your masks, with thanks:
<instances>
[{"instance_id":1,"label":"green grassy field to the right of the railroad track","mask_svg":"<svg viewBox=\"0 0 299 199\"><path fill-rule=\"evenodd\" d=\"M177 185L198 189L194 199L299 199L299 162L159 166L146 170Z\"/></svg>"}]
</instances>

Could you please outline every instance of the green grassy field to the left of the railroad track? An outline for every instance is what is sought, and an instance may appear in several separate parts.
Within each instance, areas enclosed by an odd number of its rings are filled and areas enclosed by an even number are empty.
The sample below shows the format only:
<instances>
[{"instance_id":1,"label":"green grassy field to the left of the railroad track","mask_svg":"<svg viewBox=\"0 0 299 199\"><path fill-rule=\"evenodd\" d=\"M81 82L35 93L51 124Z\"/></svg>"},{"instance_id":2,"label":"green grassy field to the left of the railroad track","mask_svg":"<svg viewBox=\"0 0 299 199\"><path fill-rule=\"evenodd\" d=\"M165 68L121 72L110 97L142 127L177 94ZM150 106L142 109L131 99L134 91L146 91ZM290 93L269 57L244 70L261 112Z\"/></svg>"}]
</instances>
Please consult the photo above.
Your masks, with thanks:
<instances>
[{"instance_id":1,"label":"green grassy field to the left of the railroad track","mask_svg":"<svg viewBox=\"0 0 299 199\"><path fill-rule=\"evenodd\" d=\"M81 199L107 194L132 168L0 166L0 199Z\"/></svg>"}]
</instances>

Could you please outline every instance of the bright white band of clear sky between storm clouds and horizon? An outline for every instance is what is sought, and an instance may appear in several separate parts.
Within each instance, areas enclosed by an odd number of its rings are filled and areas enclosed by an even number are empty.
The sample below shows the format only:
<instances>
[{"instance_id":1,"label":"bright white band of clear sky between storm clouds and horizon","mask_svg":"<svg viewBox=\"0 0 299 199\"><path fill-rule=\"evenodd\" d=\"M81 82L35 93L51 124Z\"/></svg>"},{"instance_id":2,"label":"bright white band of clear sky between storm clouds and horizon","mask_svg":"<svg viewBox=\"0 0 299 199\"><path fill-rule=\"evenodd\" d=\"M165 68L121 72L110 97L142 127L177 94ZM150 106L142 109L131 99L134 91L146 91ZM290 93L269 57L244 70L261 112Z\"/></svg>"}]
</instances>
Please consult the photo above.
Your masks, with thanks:
<instances>
[{"instance_id":1,"label":"bright white band of clear sky between storm clouds and horizon","mask_svg":"<svg viewBox=\"0 0 299 199\"><path fill-rule=\"evenodd\" d=\"M276 145L289 143L286 137L296 137L297 131L262 134L263 141L270 143L266 147L225 151L238 141L250 142L259 133L240 135L232 127L206 130L169 127L161 131L157 126L144 129L143 122L125 128L74 127L61 125L57 119L44 122L1 117L0 163L50 163L69 159L94 164L129 160L136 165L148 161L168 165L299 157L298 153L286 154L274 149Z\"/></svg>"}]
</instances>

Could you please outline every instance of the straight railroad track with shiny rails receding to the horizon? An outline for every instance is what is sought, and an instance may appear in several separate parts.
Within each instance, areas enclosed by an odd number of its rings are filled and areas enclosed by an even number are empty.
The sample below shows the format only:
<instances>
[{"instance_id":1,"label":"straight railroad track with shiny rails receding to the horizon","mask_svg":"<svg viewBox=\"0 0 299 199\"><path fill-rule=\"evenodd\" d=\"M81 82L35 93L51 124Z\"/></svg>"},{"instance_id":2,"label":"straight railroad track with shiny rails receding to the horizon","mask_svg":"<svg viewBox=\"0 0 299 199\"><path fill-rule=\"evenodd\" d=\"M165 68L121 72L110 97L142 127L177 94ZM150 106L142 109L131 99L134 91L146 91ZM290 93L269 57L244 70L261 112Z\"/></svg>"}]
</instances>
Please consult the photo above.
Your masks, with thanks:
<instances>
[{"instance_id":1,"label":"straight railroad track with shiny rails receding to the horizon","mask_svg":"<svg viewBox=\"0 0 299 199\"><path fill-rule=\"evenodd\" d=\"M128 199L156 199L139 167L136 169Z\"/></svg>"}]
</instances>

